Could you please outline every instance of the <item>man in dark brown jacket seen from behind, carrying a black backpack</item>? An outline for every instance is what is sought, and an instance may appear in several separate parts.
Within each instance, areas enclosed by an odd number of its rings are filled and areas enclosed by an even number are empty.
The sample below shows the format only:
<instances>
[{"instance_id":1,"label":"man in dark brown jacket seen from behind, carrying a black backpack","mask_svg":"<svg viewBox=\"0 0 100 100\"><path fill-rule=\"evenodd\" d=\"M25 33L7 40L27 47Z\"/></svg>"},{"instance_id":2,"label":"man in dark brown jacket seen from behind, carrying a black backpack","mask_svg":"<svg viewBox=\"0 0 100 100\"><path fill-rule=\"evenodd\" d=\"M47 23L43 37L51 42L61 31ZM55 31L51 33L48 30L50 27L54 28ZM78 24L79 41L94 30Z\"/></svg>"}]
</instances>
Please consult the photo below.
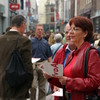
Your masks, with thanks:
<instances>
[{"instance_id":1,"label":"man in dark brown jacket seen from behind, carrying a black backpack","mask_svg":"<svg viewBox=\"0 0 100 100\"><path fill-rule=\"evenodd\" d=\"M29 88L31 88L33 80L32 49L31 41L22 35L25 29L26 19L22 15L16 15L12 18L11 29L0 36L0 100L26 100L29 98ZM19 36L17 50L27 67L29 77L20 88L11 88L7 83L5 69Z\"/></svg>"}]
</instances>

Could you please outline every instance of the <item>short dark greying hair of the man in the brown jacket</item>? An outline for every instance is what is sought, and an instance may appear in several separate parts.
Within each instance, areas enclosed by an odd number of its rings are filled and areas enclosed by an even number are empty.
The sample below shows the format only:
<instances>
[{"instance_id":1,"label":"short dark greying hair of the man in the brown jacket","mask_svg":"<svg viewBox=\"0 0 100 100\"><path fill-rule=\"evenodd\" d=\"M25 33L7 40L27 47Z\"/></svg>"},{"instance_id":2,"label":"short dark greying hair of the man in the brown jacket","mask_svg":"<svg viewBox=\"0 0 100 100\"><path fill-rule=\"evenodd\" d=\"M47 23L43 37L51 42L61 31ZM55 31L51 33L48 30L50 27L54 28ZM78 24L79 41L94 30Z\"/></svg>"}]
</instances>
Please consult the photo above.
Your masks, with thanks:
<instances>
[{"instance_id":1,"label":"short dark greying hair of the man in the brown jacket","mask_svg":"<svg viewBox=\"0 0 100 100\"><path fill-rule=\"evenodd\" d=\"M25 22L26 23L26 19L24 16L22 15L16 15L12 18L11 20L11 26L16 26L17 28L21 26L21 24Z\"/></svg>"}]
</instances>

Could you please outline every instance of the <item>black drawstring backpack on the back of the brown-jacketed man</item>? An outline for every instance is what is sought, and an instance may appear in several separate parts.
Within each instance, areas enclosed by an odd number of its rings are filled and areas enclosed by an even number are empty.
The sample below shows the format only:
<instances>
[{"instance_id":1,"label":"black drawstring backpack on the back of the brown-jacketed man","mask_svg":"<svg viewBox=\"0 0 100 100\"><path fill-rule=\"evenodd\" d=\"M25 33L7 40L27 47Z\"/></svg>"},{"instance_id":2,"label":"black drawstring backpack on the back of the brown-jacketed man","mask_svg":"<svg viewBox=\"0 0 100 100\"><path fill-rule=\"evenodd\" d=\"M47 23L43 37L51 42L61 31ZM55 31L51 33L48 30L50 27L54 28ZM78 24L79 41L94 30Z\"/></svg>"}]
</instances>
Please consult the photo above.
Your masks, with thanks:
<instances>
[{"instance_id":1,"label":"black drawstring backpack on the back of the brown-jacketed man","mask_svg":"<svg viewBox=\"0 0 100 100\"><path fill-rule=\"evenodd\" d=\"M28 79L27 68L23 62L20 53L17 50L17 43L19 37L17 38L15 49L13 50L10 60L6 67L6 77L10 87L19 87L23 85Z\"/></svg>"}]
</instances>

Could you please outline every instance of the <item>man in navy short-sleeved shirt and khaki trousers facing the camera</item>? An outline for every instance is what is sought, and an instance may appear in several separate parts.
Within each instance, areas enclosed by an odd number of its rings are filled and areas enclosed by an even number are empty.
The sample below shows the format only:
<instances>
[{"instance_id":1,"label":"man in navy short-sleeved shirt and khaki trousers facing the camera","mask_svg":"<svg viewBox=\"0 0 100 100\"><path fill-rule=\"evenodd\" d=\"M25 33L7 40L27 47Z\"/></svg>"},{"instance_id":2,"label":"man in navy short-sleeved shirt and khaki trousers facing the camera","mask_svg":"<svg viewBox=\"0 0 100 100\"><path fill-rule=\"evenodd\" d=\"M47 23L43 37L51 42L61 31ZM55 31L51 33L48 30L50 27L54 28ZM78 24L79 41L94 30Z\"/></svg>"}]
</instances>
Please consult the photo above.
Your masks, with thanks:
<instances>
[{"instance_id":1,"label":"man in navy short-sleeved shirt and khaki trousers facing the camera","mask_svg":"<svg viewBox=\"0 0 100 100\"><path fill-rule=\"evenodd\" d=\"M35 28L35 37L31 39L32 57L41 58L33 65L34 80L31 89L31 100L36 100L36 88L38 86L38 100L45 100L45 83L46 79L43 77L43 72L38 65L45 60L52 62L52 52L48 42L42 37L43 25L37 24Z\"/></svg>"}]
</instances>

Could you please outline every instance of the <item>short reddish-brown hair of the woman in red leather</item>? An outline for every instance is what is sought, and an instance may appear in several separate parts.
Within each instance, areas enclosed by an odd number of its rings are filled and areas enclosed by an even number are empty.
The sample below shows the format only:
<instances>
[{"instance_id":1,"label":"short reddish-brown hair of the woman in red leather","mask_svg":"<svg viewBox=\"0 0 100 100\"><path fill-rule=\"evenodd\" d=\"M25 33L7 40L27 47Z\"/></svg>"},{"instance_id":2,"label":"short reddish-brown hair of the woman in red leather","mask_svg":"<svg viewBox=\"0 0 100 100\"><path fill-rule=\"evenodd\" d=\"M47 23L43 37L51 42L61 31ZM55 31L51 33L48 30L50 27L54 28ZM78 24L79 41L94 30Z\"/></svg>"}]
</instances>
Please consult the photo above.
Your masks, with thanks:
<instances>
[{"instance_id":1,"label":"short reddish-brown hair of the woman in red leather","mask_svg":"<svg viewBox=\"0 0 100 100\"><path fill-rule=\"evenodd\" d=\"M85 16L76 16L69 22L70 26L74 24L76 27L80 27L83 31L88 31L85 41L90 42L93 35L93 24L91 20Z\"/></svg>"}]
</instances>

